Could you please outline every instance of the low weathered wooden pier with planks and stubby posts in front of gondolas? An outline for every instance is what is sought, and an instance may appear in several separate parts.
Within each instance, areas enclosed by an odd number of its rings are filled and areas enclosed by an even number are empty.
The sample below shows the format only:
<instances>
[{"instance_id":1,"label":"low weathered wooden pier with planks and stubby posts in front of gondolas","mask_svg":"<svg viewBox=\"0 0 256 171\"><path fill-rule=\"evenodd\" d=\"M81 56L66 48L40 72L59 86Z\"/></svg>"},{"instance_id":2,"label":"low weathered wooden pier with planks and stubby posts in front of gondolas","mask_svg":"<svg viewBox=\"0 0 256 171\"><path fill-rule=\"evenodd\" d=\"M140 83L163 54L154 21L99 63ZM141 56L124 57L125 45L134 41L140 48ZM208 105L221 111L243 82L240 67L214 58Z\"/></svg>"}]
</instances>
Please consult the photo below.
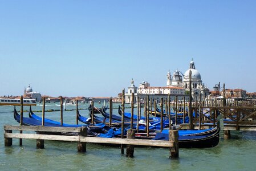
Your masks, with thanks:
<instances>
[{"instance_id":1,"label":"low weathered wooden pier with planks and stubby posts in front of gondolas","mask_svg":"<svg viewBox=\"0 0 256 171\"><path fill-rule=\"evenodd\" d=\"M44 127L44 126L13 126L5 125L5 146L13 145L13 139L35 139L36 148L44 148L44 140L73 141L78 142L78 152L86 152L86 143L98 144L123 144L127 145L127 157L133 157L134 146L153 146L169 148L169 158L178 157L178 131L169 131L169 141L160 140L140 140L135 139L135 130L130 129L127 139L121 138L101 138L87 136L87 127ZM18 133L13 133L17 131ZM36 133L23 133L23 131L33 131Z\"/></svg>"}]
</instances>

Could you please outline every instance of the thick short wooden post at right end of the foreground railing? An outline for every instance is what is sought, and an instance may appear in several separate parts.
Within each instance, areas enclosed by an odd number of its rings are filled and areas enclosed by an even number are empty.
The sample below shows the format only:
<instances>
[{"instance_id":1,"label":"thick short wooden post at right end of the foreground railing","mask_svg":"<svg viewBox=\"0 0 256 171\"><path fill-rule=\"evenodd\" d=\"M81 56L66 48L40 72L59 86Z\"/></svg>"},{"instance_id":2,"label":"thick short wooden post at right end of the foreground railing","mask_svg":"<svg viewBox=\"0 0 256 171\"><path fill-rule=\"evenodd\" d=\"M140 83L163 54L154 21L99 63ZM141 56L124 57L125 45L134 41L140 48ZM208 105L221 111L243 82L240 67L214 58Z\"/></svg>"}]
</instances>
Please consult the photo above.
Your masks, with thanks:
<instances>
[{"instance_id":1,"label":"thick short wooden post at right end of the foreground railing","mask_svg":"<svg viewBox=\"0 0 256 171\"><path fill-rule=\"evenodd\" d=\"M169 158L178 158L178 131L169 130L169 141L173 141L173 146L170 147Z\"/></svg>"}]
</instances>

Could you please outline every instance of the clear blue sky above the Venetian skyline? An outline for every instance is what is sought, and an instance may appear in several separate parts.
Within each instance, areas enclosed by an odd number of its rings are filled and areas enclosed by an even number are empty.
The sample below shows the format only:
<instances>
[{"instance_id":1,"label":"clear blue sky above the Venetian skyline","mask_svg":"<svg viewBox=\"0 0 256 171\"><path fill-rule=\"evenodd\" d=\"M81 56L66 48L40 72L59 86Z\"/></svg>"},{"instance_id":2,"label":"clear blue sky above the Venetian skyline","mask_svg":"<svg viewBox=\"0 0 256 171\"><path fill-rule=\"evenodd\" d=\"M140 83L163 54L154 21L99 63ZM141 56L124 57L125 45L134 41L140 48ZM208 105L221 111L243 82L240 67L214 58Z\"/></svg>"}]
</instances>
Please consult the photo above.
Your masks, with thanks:
<instances>
[{"instance_id":1,"label":"clear blue sky above the Venetian skyline","mask_svg":"<svg viewBox=\"0 0 256 171\"><path fill-rule=\"evenodd\" d=\"M210 89L256 92L256 1L0 1L0 96L117 96L193 58Z\"/></svg>"}]
</instances>

